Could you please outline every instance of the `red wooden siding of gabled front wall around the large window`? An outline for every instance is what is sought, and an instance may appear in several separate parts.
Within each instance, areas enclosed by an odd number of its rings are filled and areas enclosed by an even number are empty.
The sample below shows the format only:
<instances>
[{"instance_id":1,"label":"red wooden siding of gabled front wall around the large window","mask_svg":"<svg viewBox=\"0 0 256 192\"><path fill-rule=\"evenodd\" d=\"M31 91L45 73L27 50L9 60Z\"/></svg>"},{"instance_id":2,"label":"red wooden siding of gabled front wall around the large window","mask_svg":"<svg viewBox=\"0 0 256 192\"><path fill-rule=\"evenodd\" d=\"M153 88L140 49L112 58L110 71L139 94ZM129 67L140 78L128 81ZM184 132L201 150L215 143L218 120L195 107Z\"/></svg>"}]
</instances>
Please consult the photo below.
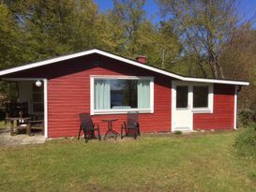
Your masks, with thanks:
<instances>
[{"instance_id":1,"label":"red wooden siding of gabled front wall around the large window","mask_svg":"<svg viewBox=\"0 0 256 192\"><path fill-rule=\"evenodd\" d=\"M141 131L171 130L171 79L169 77L99 55L14 74L16 78L17 76L40 77L49 80L48 133L50 138L78 134L79 113L90 112L90 75L153 76L155 78L154 113L140 114ZM93 119L100 126L101 134L104 134L107 129L107 123L101 122L106 117L118 119L113 123L113 128L117 131L120 131L122 122L126 120L126 114L94 115Z\"/></svg>"}]
</instances>

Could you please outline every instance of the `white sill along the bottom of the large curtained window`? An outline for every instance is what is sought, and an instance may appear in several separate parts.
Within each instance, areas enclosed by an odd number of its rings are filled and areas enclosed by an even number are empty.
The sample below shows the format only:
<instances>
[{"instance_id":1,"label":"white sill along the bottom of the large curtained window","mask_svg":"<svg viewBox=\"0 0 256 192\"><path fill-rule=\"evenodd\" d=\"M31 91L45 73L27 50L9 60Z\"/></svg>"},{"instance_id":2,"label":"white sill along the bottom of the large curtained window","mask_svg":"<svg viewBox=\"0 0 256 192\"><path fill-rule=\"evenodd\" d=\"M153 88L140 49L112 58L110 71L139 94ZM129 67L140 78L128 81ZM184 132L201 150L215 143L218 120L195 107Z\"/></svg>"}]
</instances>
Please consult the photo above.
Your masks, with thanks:
<instances>
[{"instance_id":1,"label":"white sill along the bottom of the large curtained window","mask_svg":"<svg viewBox=\"0 0 256 192\"><path fill-rule=\"evenodd\" d=\"M138 110L138 109L124 109L124 110L120 110L120 109L115 109L115 110L109 110L109 111L102 111L102 110L95 110L95 111L91 111L91 115L94 114L125 114L128 112L136 112L138 111L139 113L153 113L153 110L150 109L145 109L145 110Z\"/></svg>"}]
</instances>

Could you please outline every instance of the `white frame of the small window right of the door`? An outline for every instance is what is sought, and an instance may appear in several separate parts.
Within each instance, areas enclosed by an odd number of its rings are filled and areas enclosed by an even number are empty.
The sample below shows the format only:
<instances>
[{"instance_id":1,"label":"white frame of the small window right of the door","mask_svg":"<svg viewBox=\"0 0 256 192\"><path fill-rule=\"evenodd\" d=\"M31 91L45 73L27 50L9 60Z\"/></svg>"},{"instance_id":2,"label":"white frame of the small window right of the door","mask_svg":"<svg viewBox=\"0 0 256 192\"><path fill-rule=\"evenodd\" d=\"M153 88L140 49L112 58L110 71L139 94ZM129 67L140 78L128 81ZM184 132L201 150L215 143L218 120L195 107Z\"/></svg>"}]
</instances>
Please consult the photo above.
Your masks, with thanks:
<instances>
[{"instance_id":1,"label":"white frame of the small window right of the door","mask_svg":"<svg viewBox=\"0 0 256 192\"><path fill-rule=\"evenodd\" d=\"M214 103L214 89L213 84L209 83L192 83L192 95L191 95L191 101L192 101L192 112L193 113L213 113L213 103ZM208 86L208 107L207 108L194 108L193 107L193 96L194 96L194 86Z\"/></svg>"}]
</instances>

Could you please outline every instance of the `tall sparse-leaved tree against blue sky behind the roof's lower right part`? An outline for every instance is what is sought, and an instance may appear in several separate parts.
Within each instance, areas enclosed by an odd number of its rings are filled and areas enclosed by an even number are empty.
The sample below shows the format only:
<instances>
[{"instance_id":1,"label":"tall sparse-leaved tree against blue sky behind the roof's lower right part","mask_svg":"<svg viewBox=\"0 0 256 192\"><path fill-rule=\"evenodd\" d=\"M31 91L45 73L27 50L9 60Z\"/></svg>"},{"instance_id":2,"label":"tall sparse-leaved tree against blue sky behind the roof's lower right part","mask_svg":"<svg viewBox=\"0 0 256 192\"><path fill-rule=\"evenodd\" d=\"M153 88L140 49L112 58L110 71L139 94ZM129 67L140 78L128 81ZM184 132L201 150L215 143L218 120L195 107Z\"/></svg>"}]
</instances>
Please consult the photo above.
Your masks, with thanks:
<instances>
[{"instance_id":1,"label":"tall sparse-leaved tree against blue sky behind the roof's lower right part","mask_svg":"<svg viewBox=\"0 0 256 192\"><path fill-rule=\"evenodd\" d=\"M187 54L193 55L203 76L224 79L219 62L222 45L237 26L235 0L158 0ZM210 74L209 74L210 71Z\"/></svg>"}]
</instances>

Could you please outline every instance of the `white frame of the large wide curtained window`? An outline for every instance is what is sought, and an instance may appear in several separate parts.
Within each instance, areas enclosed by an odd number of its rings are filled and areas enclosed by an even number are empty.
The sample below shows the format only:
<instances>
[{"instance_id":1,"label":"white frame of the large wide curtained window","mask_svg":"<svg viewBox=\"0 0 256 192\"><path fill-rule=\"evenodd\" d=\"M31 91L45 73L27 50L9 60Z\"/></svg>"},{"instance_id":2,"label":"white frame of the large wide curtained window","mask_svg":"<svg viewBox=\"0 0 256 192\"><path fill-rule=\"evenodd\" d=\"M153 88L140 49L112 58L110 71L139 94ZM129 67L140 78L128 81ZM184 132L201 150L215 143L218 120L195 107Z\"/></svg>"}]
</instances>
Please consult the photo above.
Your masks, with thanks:
<instances>
[{"instance_id":1,"label":"white frame of the large wide curtained window","mask_svg":"<svg viewBox=\"0 0 256 192\"><path fill-rule=\"evenodd\" d=\"M150 81L150 108L149 109L110 109L95 110L94 94L95 80L149 80ZM139 113L154 113L154 77L148 76L107 76L107 75L91 75L90 76L90 113L94 114L121 114L129 111L138 111Z\"/></svg>"}]
</instances>

